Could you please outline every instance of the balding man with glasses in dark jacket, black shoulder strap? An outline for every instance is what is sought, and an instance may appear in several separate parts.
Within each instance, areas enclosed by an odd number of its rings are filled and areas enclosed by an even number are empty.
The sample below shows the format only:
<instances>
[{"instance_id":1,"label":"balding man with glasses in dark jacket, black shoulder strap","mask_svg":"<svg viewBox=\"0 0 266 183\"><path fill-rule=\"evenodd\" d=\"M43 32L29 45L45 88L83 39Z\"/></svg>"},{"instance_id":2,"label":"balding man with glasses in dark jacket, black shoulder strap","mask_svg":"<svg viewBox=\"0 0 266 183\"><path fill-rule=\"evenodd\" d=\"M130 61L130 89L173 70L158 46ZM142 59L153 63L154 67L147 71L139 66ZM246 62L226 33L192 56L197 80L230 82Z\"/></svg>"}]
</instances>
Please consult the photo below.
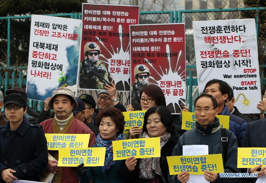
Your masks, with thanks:
<instances>
[{"instance_id":1,"label":"balding man with glasses in dark jacket, black shoulder strap","mask_svg":"<svg viewBox=\"0 0 266 183\"><path fill-rule=\"evenodd\" d=\"M183 155L183 145L208 145L209 154L222 154L223 168L225 173L241 173L237 168L237 147L236 136L228 129L225 130L228 139L226 158L223 154L223 144L221 140L221 128L219 119L216 117L219 111L216 99L209 94L202 93L194 101L195 128L186 131L173 150L172 156ZM205 171L204 178L208 182L237 183L239 178L221 178L219 174L212 171ZM189 172L183 171L180 174L168 175L169 182L185 183L189 180Z\"/></svg>"}]
</instances>

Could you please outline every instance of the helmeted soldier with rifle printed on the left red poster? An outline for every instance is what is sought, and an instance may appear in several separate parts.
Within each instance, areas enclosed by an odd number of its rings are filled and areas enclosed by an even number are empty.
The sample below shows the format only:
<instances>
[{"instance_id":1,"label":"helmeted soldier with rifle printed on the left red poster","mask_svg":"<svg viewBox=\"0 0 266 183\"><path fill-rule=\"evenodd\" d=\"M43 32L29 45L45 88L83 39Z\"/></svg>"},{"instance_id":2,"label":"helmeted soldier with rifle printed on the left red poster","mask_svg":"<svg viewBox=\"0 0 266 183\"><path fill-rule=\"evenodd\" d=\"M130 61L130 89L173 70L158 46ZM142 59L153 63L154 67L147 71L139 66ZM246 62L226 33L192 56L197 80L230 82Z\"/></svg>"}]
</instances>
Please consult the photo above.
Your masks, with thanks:
<instances>
[{"instance_id":1,"label":"helmeted soldier with rifle printed on the left red poster","mask_svg":"<svg viewBox=\"0 0 266 183\"><path fill-rule=\"evenodd\" d=\"M99 60L100 53L100 46L97 43L85 44L85 59L80 69L80 88L103 90L106 83L113 82L112 76Z\"/></svg>"}]
</instances>

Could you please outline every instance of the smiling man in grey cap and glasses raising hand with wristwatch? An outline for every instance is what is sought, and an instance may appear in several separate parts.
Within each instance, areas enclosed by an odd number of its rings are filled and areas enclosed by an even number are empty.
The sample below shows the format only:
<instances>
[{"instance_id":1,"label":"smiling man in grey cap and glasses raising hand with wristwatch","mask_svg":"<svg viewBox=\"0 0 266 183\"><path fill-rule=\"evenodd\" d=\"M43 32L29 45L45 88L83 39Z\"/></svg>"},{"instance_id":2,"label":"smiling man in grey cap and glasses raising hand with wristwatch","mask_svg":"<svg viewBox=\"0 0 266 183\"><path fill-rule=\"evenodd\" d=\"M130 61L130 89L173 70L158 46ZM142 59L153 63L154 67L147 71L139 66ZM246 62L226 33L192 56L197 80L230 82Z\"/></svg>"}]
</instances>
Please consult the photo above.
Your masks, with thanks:
<instances>
[{"instance_id":1,"label":"smiling man in grey cap and glasses raising hand with wristwatch","mask_svg":"<svg viewBox=\"0 0 266 183\"><path fill-rule=\"evenodd\" d=\"M116 87L114 86L113 82L111 82L112 86L106 85L106 90L101 90L97 95L97 105L98 108L95 110L93 114L93 118L96 119L98 112L110 106L118 108L121 112L125 112L126 108L123 106L122 103L119 102L118 98L116 97ZM95 122L96 125L97 122Z\"/></svg>"}]
</instances>

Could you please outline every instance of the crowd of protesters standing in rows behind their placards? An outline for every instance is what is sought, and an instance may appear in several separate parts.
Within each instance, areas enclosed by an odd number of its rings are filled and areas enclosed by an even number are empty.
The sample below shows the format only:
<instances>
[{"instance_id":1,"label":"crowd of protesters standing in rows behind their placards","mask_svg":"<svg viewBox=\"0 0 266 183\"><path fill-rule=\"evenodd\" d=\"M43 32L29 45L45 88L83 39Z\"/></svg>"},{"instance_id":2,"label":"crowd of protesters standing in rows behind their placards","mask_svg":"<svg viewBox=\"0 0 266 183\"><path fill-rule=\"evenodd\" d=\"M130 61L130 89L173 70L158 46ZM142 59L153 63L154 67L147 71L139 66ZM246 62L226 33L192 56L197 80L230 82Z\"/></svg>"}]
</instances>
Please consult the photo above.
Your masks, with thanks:
<instances>
[{"instance_id":1,"label":"crowd of protesters standing in rows behind their placards","mask_svg":"<svg viewBox=\"0 0 266 183\"><path fill-rule=\"evenodd\" d=\"M237 168L238 147L266 147L266 94L258 101L259 114L241 114L234 106L233 90L222 81L207 82L204 92L194 100L195 128L181 129L182 114L174 114L166 106L160 87L146 85L140 91L139 108L119 102L116 88L106 84L98 92L97 101L91 95L78 98L68 88L57 88L44 101L38 114L27 105L27 94L22 88L0 92L0 182L13 180L40 181L38 174L53 173L53 183L67 182L147 182L167 183L189 180L189 172L169 175L167 156L183 155L183 145L208 145L209 154L222 154L225 173L257 173L266 175L266 166L249 169ZM97 105L96 105L97 104ZM98 108L96 108L98 106ZM160 157L113 160L112 141L124 140L124 116L121 112L147 110L143 129L133 126L129 139L160 137ZM184 106L182 111L188 111ZM191 111L192 112L192 111ZM217 115L229 116L229 129L220 127ZM265 123L265 124L264 124ZM104 166L57 166L57 150L47 149L45 133L90 134L88 147L105 147ZM221 137L227 137L224 148ZM48 154L56 160L48 160ZM257 178L223 178L212 171L205 171L208 182L256 182Z\"/></svg>"}]
</instances>

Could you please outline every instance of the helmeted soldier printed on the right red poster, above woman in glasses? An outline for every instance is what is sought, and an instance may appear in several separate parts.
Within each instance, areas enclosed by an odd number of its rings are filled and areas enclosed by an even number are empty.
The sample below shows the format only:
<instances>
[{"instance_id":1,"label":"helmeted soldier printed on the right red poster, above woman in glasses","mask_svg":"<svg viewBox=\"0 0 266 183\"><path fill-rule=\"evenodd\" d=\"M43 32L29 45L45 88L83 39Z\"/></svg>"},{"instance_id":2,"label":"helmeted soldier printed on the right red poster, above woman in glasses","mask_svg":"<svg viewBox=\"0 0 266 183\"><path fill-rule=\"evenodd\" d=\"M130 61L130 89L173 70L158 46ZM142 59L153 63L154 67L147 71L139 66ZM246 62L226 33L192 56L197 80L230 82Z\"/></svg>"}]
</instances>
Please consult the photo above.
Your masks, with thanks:
<instances>
[{"instance_id":1,"label":"helmeted soldier printed on the right red poster, above woman in glasses","mask_svg":"<svg viewBox=\"0 0 266 183\"><path fill-rule=\"evenodd\" d=\"M135 82L132 85L131 103L134 109L139 108L138 99L140 98L140 90L149 84L150 70L145 65L137 65L135 67Z\"/></svg>"}]
</instances>

